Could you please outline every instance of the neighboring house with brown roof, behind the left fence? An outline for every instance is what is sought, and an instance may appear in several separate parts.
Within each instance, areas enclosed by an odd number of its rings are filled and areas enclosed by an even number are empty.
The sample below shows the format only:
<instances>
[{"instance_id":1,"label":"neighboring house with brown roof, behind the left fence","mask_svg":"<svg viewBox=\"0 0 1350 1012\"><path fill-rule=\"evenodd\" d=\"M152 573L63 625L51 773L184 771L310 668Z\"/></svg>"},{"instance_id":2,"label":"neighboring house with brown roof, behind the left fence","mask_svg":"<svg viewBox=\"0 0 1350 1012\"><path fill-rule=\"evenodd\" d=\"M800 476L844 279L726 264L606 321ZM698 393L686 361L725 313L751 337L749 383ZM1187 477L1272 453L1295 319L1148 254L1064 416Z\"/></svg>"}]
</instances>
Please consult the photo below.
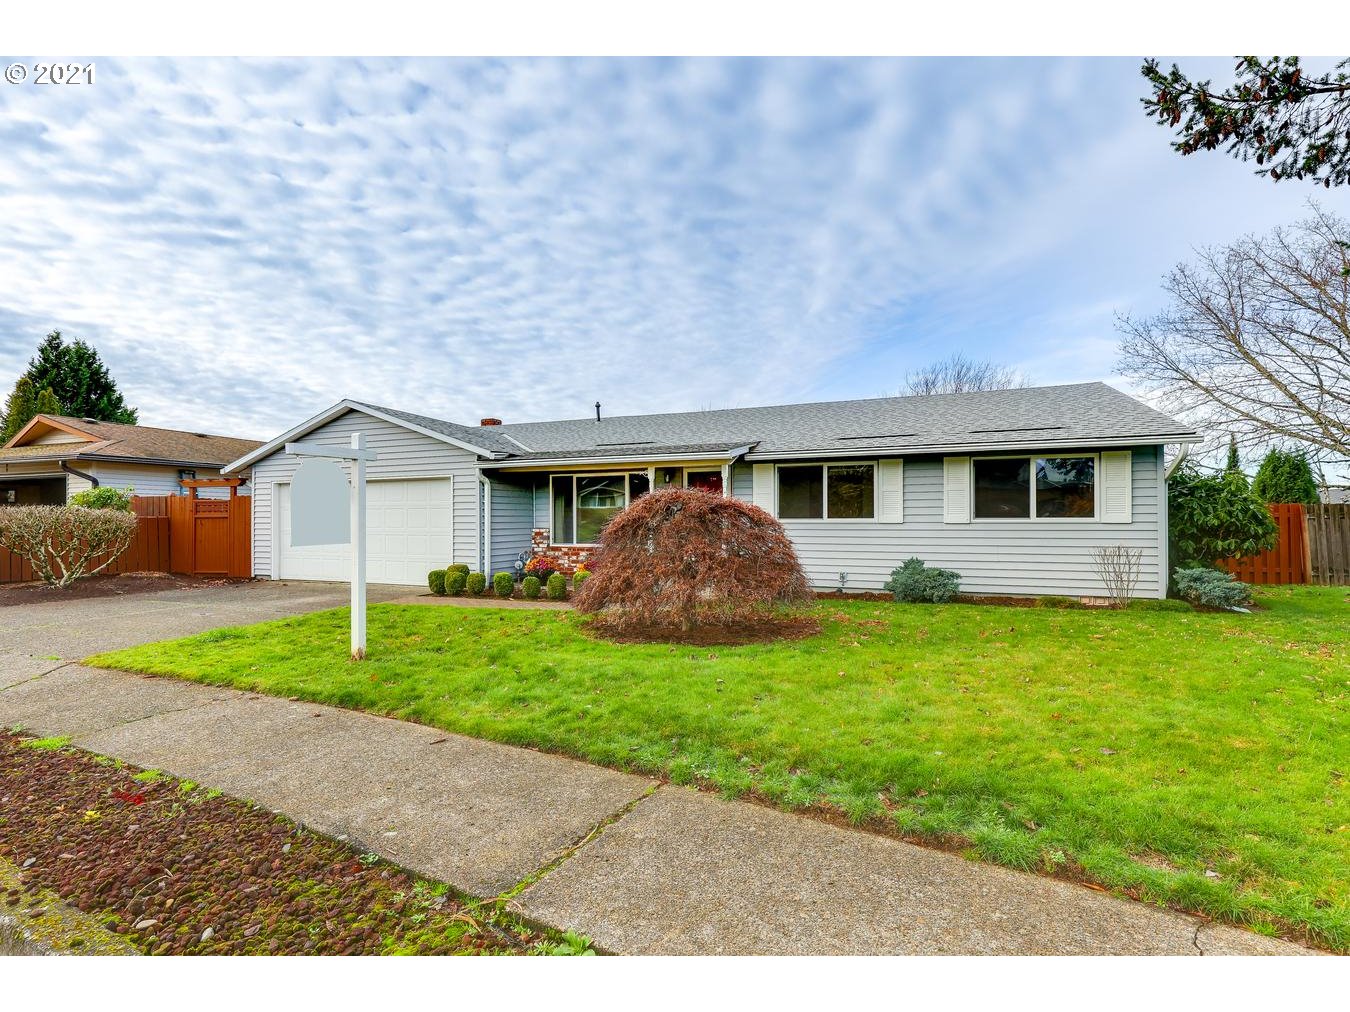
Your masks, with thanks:
<instances>
[{"instance_id":1,"label":"neighboring house with brown roof, behind the left fence","mask_svg":"<svg viewBox=\"0 0 1350 1012\"><path fill-rule=\"evenodd\" d=\"M0 448L0 506L63 503L96 484L178 495L180 479L220 478L221 464L259 445L204 432L39 414Z\"/></svg>"}]
</instances>

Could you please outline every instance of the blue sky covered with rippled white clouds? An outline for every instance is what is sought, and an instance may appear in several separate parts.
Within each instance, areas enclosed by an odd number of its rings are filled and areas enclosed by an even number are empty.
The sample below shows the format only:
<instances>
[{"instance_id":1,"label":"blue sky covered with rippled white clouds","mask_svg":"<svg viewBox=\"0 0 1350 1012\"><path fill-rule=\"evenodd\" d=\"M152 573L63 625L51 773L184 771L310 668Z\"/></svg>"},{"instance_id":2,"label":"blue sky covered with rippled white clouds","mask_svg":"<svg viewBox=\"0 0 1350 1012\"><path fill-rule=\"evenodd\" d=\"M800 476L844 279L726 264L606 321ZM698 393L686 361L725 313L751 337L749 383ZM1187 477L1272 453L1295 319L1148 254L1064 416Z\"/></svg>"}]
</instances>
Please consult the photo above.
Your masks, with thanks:
<instances>
[{"instance_id":1,"label":"blue sky covered with rippled white clouds","mask_svg":"<svg viewBox=\"0 0 1350 1012\"><path fill-rule=\"evenodd\" d=\"M0 85L0 383L53 328L143 422L256 437L342 397L872 397L952 351L1119 383L1115 313L1315 193L1173 154L1143 88L1134 59L99 59Z\"/></svg>"}]
</instances>

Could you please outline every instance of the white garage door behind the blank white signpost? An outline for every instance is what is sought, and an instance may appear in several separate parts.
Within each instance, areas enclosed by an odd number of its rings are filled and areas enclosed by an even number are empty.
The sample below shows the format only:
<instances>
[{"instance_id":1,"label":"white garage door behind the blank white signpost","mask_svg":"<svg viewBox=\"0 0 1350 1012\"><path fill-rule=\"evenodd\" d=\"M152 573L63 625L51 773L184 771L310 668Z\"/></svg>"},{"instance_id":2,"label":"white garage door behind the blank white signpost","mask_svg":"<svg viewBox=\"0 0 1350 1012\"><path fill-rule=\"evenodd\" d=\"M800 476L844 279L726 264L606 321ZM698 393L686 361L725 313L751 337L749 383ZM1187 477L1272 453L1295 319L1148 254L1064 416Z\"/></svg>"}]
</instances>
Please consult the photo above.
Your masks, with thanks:
<instances>
[{"instance_id":1,"label":"white garage door behind the blank white signpost","mask_svg":"<svg viewBox=\"0 0 1350 1012\"><path fill-rule=\"evenodd\" d=\"M425 478L366 483L366 579L427 584L427 572L450 563L451 480ZM277 486L277 576L282 580L350 580L347 545L290 546L290 486Z\"/></svg>"}]
</instances>

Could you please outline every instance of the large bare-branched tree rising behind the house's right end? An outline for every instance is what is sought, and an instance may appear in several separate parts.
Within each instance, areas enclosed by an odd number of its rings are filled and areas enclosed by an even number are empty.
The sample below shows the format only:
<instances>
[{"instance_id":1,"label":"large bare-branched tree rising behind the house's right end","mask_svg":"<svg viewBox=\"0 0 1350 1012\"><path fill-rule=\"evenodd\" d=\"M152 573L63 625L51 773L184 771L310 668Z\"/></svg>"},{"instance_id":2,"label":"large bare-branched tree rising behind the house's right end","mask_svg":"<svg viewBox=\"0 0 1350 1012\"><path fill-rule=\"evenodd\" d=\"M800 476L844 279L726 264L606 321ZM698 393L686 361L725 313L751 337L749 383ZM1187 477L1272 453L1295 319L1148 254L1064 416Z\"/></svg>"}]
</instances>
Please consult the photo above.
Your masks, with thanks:
<instances>
[{"instance_id":1,"label":"large bare-branched tree rising behind the house's right end","mask_svg":"<svg viewBox=\"0 0 1350 1012\"><path fill-rule=\"evenodd\" d=\"M1200 251L1164 281L1170 305L1122 317L1119 371L1245 449L1291 440L1350 457L1350 227L1312 216Z\"/></svg>"}]
</instances>

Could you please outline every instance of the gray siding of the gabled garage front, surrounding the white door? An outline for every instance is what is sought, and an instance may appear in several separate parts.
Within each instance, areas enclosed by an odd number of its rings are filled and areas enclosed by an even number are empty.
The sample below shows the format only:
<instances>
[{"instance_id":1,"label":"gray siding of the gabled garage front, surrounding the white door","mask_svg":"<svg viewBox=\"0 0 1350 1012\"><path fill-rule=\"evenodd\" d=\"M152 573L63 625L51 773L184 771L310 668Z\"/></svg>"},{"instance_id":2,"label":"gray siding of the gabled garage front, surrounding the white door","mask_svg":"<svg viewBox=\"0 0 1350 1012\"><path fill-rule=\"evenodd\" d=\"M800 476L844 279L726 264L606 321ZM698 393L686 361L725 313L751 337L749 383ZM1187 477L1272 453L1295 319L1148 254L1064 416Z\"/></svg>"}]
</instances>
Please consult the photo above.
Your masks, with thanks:
<instances>
[{"instance_id":1,"label":"gray siding of the gabled garage front, surrounding the white door","mask_svg":"<svg viewBox=\"0 0 1350 1012\"><path fill-rule=\"evenodd\" d=\"M478 470L468 451L374 418L348 412L304 436L305 443L351 445L354 432L366 433L366 445L379 453L366 466L370 478L454 478L454 561L478 568ZM252 468L254 575L271 576L273 486L289 482L298 466L285 452L263 457Z\"/></svg>"}]
</instances>

